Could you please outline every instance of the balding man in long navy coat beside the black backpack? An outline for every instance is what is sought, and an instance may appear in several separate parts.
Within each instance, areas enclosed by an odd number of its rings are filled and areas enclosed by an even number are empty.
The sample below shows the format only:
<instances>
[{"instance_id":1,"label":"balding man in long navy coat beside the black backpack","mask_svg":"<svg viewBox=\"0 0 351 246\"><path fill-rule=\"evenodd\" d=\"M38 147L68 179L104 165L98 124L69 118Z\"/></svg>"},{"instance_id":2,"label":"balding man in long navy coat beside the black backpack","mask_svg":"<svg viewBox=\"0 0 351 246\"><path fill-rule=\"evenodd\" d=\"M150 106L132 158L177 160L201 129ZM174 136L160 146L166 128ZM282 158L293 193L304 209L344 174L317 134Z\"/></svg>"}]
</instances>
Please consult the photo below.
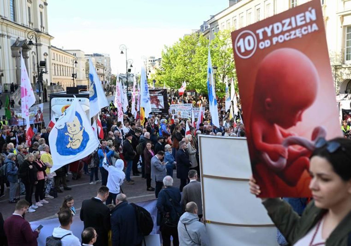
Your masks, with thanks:
<instances>
[{"instance_id":1,"label":"balding man in long navy coat beside the black backpack","mask_svg":"<svg viewBox=\"0 0 351 246\"><path fill-rule=\"evenodd\" d=\"M116 207L111 211L111 238L114 246L135 246L143 239L138 234L135 209L128 204L127 196L122 193L117 195Z\"/></svg>"}]
</instances>

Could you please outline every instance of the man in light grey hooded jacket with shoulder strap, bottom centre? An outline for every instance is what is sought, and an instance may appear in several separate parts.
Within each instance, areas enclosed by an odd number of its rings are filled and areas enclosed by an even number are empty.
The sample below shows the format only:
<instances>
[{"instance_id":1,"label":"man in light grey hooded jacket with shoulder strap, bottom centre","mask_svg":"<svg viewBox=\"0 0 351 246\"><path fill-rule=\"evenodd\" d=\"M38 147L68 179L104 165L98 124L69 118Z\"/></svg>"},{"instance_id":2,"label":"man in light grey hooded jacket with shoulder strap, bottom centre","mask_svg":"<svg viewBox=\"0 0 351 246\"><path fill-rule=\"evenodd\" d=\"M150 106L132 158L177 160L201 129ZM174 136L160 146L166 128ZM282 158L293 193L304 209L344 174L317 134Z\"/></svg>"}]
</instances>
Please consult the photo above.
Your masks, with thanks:
<instances>
[{"instance_id":1,"label":"man in light grey hooded jacket with shoulder strap, bottom centre","mask_svg":"<svg viewBox=\"0 0 351 246\"><path fill-rule=\"evenodd\" d=\"M210 245L205 225L197 216L197 205L189 202L185 206L185 213L178 222L179 246L207 246Z\"/></svg>"}]
</instances>

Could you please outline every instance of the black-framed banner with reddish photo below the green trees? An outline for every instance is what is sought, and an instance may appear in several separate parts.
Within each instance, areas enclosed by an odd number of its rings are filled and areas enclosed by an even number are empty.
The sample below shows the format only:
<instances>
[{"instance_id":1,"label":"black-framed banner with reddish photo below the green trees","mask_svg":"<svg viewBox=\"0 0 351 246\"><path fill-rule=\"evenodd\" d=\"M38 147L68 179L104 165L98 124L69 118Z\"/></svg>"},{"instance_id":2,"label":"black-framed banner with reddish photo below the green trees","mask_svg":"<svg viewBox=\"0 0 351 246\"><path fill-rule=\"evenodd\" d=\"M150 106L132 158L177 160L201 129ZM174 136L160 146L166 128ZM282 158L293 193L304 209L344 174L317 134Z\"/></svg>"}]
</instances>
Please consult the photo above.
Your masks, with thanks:
<instances>
[{"instance_id":1,"label":"black-framed banner with reddish photo below the green trees","mask_svg":"<svg viewBox=\"0 0 351 246\"><path fill-rule=\"evenodd\" d=\"M167 90L149 90L151 102L151 115L168 115Z\"/></svg>"}]
</instances>

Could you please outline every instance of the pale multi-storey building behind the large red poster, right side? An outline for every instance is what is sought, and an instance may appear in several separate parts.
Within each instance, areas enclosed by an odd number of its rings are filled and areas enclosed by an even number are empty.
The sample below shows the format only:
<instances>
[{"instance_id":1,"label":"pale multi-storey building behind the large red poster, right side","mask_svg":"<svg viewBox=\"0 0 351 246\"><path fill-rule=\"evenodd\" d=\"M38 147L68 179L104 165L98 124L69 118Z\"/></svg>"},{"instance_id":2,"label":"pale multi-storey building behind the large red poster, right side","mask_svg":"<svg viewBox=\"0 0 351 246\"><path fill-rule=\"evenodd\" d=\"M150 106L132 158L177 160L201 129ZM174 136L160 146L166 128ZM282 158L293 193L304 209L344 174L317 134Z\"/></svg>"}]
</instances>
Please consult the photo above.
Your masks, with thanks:
<instances>
[{"instance_id":1,"label":"pale multi-storey building behind the large red poster, right side","mask_svg":"<svg viewBox=\"0 0 351 246\"><path fill-rule=\"evenodd\" d=\"M309 0L229 0L229 7L200 26L208 39L237 30ZM336 93L351 93L351 0L320 0ZM342 96L343 97L343 96Z\"/></svg>"}]
</instances>

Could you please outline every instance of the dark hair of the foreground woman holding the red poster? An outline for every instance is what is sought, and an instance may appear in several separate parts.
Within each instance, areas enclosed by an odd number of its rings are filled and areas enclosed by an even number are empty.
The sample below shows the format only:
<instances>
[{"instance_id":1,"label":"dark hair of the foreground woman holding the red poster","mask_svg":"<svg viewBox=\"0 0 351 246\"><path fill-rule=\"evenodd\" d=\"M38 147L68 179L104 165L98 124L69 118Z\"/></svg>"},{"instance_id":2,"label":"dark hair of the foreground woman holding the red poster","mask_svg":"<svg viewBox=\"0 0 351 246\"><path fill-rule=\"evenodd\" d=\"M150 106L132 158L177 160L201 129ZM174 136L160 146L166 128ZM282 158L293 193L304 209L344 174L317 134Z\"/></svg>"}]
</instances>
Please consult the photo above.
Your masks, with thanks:
<instances>
[{"instance_id":1,"label":"dark hair of the foreground woman holding the red poster","mask_svg":"<svg viewBox=\"0 0 351 246\"><path fill-rule=\"evenodd\" d=\"M340 144L340 147L333 153L327 150L327 144L321 148L315 149L311 155L319 156L327 159L330 162L333 170L338 174L342 180L349 181L351 179L351 140L345 138L333 138L328 141Z\"/></svg>"}]
</instances>

